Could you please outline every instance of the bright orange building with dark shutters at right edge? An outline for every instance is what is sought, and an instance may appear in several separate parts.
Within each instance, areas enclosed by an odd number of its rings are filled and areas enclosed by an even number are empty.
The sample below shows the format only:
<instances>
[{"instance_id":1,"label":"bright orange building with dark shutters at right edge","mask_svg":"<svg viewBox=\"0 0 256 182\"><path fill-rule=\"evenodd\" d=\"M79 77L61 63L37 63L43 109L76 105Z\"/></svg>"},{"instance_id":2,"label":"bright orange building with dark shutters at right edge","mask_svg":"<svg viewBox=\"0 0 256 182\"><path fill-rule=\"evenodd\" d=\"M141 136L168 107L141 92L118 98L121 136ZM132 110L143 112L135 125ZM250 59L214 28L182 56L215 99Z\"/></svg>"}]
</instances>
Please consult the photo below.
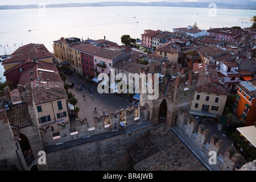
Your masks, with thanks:
<instances>
[{"instance_id":1,"label":"bright orange building with dark shutters at right edge","mask_svg":"<svg viewBox=\"0 0 256 182\"><path fill-rule=\"evenodd\" d=\"M234 112L245 126L255 125L256 122L256 78L240 82L237 85Z\"/></svg>"}]
</instances>

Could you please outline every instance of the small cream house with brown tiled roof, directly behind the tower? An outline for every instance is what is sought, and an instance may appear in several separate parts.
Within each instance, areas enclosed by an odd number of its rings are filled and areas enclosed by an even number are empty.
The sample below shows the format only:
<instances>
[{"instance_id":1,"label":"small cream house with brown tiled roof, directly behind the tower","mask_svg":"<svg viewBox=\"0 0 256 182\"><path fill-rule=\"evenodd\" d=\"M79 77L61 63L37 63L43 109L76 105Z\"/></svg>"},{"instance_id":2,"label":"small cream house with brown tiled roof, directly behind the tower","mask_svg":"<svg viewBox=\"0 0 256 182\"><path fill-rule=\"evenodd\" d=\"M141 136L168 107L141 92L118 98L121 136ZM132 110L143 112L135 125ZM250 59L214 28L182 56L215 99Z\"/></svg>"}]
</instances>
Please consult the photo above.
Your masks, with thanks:
<instances>
[{"instance_id":1,"label":"small cream house with brown tiled roof, directly behind the tower","mask_svg":"<svg viewBox=\"0 0 256 182\"><path fill-rule=\"evenodd\" d=\"M180 54L180 47L172 43L164 44L163 46L156 48L156 54L167 57L168 60L177 63Z\"/></svg>"}]
</instances>

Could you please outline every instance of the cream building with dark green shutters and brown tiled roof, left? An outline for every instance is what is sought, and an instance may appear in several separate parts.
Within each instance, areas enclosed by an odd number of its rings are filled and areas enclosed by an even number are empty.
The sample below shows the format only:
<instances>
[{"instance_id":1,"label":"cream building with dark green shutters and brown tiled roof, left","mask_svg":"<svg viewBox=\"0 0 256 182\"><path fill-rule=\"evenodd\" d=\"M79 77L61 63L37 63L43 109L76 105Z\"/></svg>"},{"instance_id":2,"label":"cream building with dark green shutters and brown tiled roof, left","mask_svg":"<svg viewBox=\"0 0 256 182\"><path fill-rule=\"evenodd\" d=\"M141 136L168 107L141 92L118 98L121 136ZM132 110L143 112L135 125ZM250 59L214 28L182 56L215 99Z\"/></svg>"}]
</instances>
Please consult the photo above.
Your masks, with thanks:
<instances>
[{"instance_id":1,"label":"cream building with dark green shutters and brown tiled roof, left","mask_svg":"<svg viewBox=\"0 0 256 182\"><path fill-rule=\"evenodd\" d=\"M38 61L22 72L19 85L28 83L39 126L51 127L52 139L60 138L57 123L69 123L69 117L67 94L55 64Z\"/></svg>"}]
</instances>

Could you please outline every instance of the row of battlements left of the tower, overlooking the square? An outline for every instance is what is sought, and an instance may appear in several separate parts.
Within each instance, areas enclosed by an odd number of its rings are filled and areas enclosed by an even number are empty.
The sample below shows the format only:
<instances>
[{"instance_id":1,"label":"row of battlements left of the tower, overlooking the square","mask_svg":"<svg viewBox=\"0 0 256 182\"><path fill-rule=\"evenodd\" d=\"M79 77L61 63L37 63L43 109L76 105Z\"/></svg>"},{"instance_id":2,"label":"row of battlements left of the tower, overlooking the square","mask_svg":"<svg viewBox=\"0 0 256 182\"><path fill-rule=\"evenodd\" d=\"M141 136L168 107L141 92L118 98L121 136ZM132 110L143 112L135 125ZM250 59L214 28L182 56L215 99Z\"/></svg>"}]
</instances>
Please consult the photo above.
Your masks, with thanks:
<instances>
[{"instance_id":1,"label":"row of battlements left of the tower, overlooking the square","mask_svg":"<svg viewBox=\"0 0 256 182\"><path fill-rule=\"evenodd\" d=\"M91 135L97 135L114 130L114 125L117 123L117 129L121 129L120 122L123 121L126 126L134 125L139 122L148 121L149 111L148 105L139 105L138 108L127 107L127 109L120 109L115 113L109 113L108 115L100 113L100 116L93 116L93 127L88 127L88 118L84 119L76 118L77 131L73 132L69 122L58 123L57 127L60 132L60 138L53 139L50 125L40 127L40 135L44 146L51 146L53 144L67 142L68 140L78 139L82 137L88 137Z\"/></svg>"}]
</instances>

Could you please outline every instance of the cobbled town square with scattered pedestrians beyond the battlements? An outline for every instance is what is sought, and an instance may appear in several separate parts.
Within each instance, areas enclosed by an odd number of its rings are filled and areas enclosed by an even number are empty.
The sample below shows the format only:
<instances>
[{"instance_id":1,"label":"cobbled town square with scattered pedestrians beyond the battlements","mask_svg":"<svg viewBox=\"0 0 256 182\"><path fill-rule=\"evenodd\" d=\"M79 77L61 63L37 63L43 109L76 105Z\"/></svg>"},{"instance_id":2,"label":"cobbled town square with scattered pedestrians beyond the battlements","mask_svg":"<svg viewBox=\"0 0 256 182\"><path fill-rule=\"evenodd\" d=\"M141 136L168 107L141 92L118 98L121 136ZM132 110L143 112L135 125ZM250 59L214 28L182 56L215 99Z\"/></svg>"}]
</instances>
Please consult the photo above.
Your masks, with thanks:
<instances>
[{"instance_id":1,"label":"cobbled town square with scattered pedestrians beyond the battlements","mask_svg":"<svg viewBox=\"0 0 256 182\"><path fill-rule=\"evenodd\" d=\"M96 115L100 116L100 113L102 113L102 111L105 111L109 114L115 113L115 111L117 110L126 109L127 107L132 106L126 94L121 94L121 96L116 96L112 93L100 94L97 91L97 86L94 84L91 85L92 92L90 92L88 90L90 85L87 83L85 84L85 78L80 78L77 73L73 73L71 76L67 76L67 80L65 80L65 83L69 84L70 82L75 83L73 88L68 89L68 92L72 92L73 94L75 94L75 98L78 101L78 103L76 104L76 106L80 108L78 117L81 120L87 117L89 128L94 126L93 109L95 107ZM86 86L82 86L81 90L76 90L76 86L79 84L85 84ZM85 96L85 98L83 98L83 95ZM71 128L73 127L76 127L75 122L71 122Z\"/></svg>"}]
</instances>

